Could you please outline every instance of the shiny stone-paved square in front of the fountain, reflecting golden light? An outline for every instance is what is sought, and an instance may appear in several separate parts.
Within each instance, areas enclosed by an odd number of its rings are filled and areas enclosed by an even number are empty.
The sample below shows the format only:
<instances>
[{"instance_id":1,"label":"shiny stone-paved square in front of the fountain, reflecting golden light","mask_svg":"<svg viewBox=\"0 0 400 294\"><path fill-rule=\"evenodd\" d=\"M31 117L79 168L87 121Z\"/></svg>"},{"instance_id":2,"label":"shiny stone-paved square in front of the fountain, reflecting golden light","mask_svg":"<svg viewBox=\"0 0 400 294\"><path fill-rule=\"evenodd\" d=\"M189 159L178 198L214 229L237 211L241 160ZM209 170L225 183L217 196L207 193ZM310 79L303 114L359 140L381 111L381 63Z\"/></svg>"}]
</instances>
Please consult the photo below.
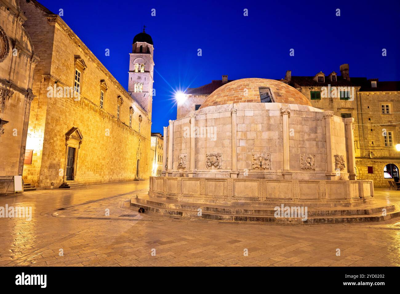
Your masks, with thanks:
<instances>
[{"instance_id":1,"label":"shiny stone-paved square in front of the fountain, reflecting golden light","mask_svg":"<svg viewBox=\"0 0 400 294\"><path fill-rule=\"evenodd\" d=\"M0 218L0 265L400 266L400 218L284 226L138 214L129 200L147 187L122 182L0 197L0 206L33 211L31 220ZM398 191L376 189L376 197L400 204Z\"/></svg>"}]
</instances>

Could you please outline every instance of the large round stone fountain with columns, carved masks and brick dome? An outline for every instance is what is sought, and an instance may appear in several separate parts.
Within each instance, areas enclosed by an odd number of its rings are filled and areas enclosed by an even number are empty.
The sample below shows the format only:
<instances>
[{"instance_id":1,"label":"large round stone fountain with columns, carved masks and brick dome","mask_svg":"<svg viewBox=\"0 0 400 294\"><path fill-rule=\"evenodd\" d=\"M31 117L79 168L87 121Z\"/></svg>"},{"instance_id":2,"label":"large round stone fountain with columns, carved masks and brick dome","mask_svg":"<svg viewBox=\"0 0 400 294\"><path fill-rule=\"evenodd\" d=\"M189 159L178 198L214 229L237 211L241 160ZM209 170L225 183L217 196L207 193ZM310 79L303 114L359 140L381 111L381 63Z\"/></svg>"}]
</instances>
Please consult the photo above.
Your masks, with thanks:
<instances>
[{"instance_id":1,"label":"large round stone fountain with columns, carved masks and brick dome","mask_svg":"<svg viewBox=\"0 0 400 294\"><path fill-rule=\"evenodd\" d=\"M351 221L351 207L375 204L373 182L357 179L353 122L277 80L229 82L164 127L163 176L132 205L190 217L198 206L201 218L240 221L277 221L282 204L316 217L341 207L349 220L308 223Z\"/></svg>"}]
</instances>

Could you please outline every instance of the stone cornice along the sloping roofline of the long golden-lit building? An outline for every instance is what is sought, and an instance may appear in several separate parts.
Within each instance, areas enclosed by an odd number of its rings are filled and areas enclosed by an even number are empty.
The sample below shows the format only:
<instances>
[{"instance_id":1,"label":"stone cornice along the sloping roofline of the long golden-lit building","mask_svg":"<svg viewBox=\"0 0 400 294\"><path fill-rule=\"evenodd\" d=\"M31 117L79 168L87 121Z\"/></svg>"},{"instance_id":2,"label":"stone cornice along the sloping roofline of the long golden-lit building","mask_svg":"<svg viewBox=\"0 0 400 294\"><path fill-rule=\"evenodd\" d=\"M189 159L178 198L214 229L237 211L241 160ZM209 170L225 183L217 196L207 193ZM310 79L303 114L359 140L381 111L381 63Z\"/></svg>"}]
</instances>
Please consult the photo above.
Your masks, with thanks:
<instances>
[{"instance_id":1,"label":"stone cornice along the sloping roofline of the long golden-lit building","mask_svg":"<svg viewBox=\"0 0 400 294\"><path fill-rule=\"evenodd\" d=\"M98 60L98 58L90 51L90 49L80 40L80 38L72 31L72 29L60 18L58 14L47 14L47 21L50 25L58 25L58 27L64 31L78 47L90 58L90 60L100 69L103 74L108 78L114 86L123 94L127 99L129 99L132 103L136 104L136 106L143 112L143 114L148 117L148 113L140 104L130 96L128 91L121 86L121 84L114 78L114 76L107 70L107 68Z\"/></svg>"}]
</instances>

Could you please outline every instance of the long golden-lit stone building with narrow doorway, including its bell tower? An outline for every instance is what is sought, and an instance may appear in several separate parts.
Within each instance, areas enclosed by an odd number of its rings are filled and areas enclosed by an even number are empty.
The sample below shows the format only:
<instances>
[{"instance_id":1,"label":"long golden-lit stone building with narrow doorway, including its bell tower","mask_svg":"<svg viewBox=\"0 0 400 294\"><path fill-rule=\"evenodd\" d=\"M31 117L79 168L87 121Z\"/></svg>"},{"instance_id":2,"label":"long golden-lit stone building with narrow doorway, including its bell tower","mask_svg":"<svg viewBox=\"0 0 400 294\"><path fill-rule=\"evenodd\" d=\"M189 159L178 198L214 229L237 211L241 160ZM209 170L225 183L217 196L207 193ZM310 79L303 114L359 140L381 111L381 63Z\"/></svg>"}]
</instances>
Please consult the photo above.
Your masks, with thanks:
<instances>
[{"instance_id":1,"label":"long golden-lit stone building with narrow doorway, including its bell tower","mask_svg":"<svg viewBox=\"0 0 400 294\"><path fill-rule=\"evenodd\" d=\"M152 41L135 37L130 60L140 57L146 65L139 72L130 66L129 83L141 76L148 84L128 92L58 14L35 0L20 5L40 57L27 137L32 160L24 165L24 180L38 188L68 188L148 178L151 96L146 104L137 95L151 93ZM136 53L139 43L147 44L146 53Z\"/></svg>"}]
</instances>

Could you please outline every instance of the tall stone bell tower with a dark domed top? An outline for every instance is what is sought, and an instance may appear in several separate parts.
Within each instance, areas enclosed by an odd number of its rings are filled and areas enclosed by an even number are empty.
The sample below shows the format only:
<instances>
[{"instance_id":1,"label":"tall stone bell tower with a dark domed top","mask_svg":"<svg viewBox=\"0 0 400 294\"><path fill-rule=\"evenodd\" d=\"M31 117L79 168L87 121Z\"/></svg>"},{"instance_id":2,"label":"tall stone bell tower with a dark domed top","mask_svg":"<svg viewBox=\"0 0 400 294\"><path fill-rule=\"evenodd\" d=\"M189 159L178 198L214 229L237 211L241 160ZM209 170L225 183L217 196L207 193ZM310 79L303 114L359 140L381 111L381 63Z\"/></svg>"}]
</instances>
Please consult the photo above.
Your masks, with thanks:
<instances>
[{"instance_id":1,"label":"tall stone bell tower with a dark domed top","mask_svg":"<svg viewBox=\"0 0 400 294\"><path fill-rule=\"evenodd\" d=\"M153 40L144 31L133 38L132 53L129 60L129 82L128 92L151 119L152 96L153 96Z\"/></svg>"}]
</instances>

